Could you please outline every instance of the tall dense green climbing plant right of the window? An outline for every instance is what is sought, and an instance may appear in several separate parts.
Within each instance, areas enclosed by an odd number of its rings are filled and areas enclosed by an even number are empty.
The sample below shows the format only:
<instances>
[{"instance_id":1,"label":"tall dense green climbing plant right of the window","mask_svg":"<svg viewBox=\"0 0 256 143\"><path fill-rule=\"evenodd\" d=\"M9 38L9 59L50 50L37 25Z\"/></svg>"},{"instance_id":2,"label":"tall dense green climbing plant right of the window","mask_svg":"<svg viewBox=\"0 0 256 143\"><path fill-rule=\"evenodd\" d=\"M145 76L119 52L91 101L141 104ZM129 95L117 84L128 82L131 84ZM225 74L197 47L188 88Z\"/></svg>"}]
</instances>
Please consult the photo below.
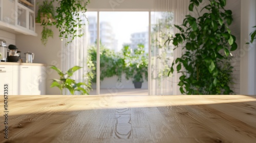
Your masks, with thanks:
<instances>
[{"instance_id":1,"label":"tall dense green climbing plant right of the window","mask_svg":"<svg viewBox=\"0 0 256 143\"><path fill-rule=\"evenodd\" d=\"M174 60L170 73L177 64L180 77L180 91L186 94L230 94L232 66L231 51L237 49L236 37L230 29L232 12L226 10L226 0L209 0L209 5L198 7L202 0L191 0L189 11L196 9L199 17L186 15L180 30L172 41L176 48L183 49L183 55ZM183 68L182 68L183 67Z\"/></svg>"}]
</instances>

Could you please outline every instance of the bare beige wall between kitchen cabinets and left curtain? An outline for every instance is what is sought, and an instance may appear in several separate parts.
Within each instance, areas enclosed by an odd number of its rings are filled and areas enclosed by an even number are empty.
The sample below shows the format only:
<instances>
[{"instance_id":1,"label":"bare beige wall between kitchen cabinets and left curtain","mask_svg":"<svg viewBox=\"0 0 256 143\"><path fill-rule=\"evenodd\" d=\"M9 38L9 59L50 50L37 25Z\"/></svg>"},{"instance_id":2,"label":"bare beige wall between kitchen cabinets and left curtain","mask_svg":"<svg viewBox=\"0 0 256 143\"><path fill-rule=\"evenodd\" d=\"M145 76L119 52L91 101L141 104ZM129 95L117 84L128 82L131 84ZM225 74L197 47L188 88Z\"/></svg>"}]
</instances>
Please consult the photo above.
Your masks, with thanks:
<instances>
[{"instance_id":1,"label":"bare beige wall between kitchen cabinets and left curtain","mask_svg":"<svg viewBox=\"0 0 256 143\"><path fill-rule=\"evenodd\" d=\"M42 27L36 24L36 33L38 36L16 35L16 46L24 53L32 52L35 54L34 63L47 64L46 67L46 94L60 94L57 87L50 88L51 79L58 78L56 71L50 69L50 65L56 65L60 68L60 57L58 52L61 50L61 41L58 37L58 30L52 28L54 32L54 38L49 38L46 46L41 43L41 30Z\"/></svg>"}]
</instances>

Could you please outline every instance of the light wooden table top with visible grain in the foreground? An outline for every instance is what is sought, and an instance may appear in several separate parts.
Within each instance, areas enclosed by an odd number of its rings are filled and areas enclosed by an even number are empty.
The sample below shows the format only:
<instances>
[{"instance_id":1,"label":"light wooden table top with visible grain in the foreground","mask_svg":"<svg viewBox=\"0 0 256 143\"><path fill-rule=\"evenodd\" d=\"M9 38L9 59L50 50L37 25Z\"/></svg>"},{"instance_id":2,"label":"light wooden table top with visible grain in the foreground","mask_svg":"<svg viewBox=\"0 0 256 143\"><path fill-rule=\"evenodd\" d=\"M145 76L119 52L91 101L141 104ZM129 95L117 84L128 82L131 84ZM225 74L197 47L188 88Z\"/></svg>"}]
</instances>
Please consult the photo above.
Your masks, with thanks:
<instances>
[{"instance_id":1,"label":"light wooden table top with visible grain in the foreground","mask_svg":"<svg viewBox=\"0 0 256 143\"><path fill-rule=\"evenodd\" d=\"M256 142L256 96L0 98L0 142Z\"/></svg>"}]
</instances>

